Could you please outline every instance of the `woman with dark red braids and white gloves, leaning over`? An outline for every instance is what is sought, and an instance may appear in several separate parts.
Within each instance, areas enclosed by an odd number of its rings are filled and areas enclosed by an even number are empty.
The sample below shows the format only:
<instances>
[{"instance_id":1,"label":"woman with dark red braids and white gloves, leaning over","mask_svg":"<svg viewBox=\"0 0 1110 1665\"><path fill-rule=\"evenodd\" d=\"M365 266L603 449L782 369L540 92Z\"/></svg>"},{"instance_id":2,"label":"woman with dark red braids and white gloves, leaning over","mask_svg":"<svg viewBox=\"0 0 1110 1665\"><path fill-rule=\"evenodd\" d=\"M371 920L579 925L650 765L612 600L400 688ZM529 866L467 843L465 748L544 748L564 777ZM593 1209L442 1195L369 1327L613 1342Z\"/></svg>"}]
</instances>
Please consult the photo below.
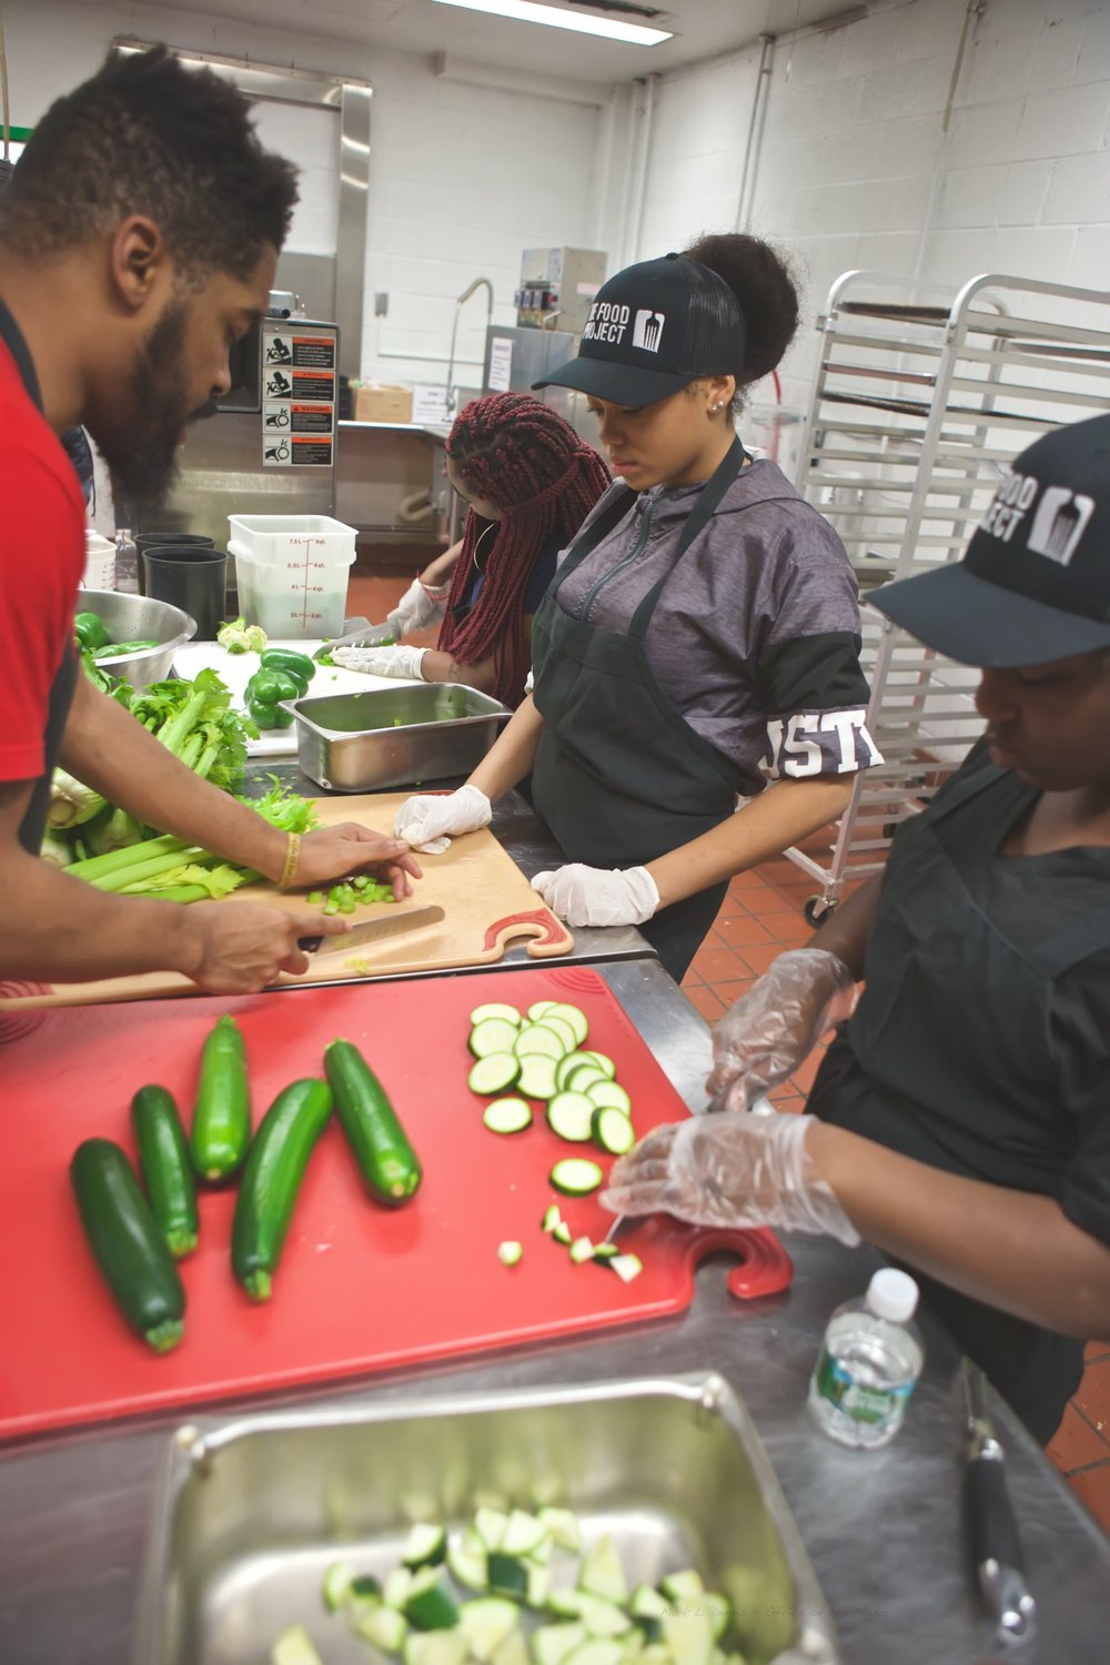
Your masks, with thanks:
<instances>
[{"instance_id":1,"label":"woman with dark red braids and white gloves, leaning over","mask_svg":"<svg viewBox=\"0 0 1110 1665\"><path fill-rule=\"evenodd\" d=\"M549 405L524 393L474 400L448 438L448 478L469 504L463 539L413 581L386 623L403 636L443 618L436 648L336 648L334 661L376 676L466 683L519 706L533 614L609 473Z\"/></svg>"}]
</instances>

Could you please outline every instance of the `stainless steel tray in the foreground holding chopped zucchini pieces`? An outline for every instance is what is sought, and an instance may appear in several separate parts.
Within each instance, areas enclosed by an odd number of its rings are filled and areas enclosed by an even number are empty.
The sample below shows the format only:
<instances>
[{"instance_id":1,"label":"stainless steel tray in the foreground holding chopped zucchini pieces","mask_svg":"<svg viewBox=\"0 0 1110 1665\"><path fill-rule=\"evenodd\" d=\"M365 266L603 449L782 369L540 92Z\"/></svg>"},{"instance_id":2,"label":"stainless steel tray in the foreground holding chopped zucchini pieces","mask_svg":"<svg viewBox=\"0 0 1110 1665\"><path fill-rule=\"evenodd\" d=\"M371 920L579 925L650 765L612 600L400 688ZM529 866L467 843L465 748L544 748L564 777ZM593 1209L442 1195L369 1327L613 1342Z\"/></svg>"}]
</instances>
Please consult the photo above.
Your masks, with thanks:
<instances>
[{"instance_id":1,"label":"stainless steel tray in the foreground holding chopped zucchini pieces","mask_svg":"<svg viewBox=\"0 0 1110 1665\"><path fill-rule=\"evenodd\" d=\"M325 1570L383 1577L414 1520L556 1502L616 1540L629 1587L697 1567L747 1665L837 1665L829 1608L751 1419L716 1374L191 1424L161 1460L133 1665L268 1665L303 1623L328 1665L368 1643ZM572 1582L569 1560L557 1583ZM762 1637L752 1642L752 1635Z\"/></svg>"}]
</instances>

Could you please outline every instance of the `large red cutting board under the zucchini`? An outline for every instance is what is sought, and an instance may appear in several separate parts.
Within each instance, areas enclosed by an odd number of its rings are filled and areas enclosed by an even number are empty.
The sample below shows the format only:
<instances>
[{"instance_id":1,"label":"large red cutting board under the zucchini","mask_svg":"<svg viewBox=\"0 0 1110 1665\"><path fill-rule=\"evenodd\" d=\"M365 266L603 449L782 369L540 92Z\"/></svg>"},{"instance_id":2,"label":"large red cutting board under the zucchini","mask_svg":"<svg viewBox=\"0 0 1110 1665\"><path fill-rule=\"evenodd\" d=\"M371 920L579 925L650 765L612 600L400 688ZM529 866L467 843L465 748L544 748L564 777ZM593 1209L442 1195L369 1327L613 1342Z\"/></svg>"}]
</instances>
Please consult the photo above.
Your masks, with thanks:
<instances>
[{"instance_id":1,"label":"large red cutting board under the zucchini","mask_svg":"<svg viewBox=\"0 0 1110 1665\"><path fill-rule=\"evenodd\" d=\"M622 1242L646 1267L631 1284L596 1264L572 1265L543 1234L556 1195L551 1166L589 1147L559 1141L543 1116L514 1137L491 1134L486 1101L466 1087L471 1009L541 999L582 1007L587 1044L614 1059L637 1134L687 1114L612 992L584 967L27 1014L40 1021L0 1047L0 1439L679 1312L697 1260L722 1240L744 1262L736 1294L784 1289L790 1262L769 1232L722 1239L652 1219ZM255 1122L283 1086L321 1072L336 1036L361 1046L424 1180L404 1209L374 1204L333 1119L265 1305L231 1279L233 1194L205 1192L200 1249L181 1264L185 1340L156 1357L100 1282L68 1161L93 1134L133 1154L128 1106L145 1082L170 1087L188 1119L200 1049L221 1012L235 1014L246 1041ZM576 1234L599 1239L611 1224L596 1197L559 1205ZM498 1260L503 1239L524 1245L513 1269Z\"/></svg>"}]
</instances>

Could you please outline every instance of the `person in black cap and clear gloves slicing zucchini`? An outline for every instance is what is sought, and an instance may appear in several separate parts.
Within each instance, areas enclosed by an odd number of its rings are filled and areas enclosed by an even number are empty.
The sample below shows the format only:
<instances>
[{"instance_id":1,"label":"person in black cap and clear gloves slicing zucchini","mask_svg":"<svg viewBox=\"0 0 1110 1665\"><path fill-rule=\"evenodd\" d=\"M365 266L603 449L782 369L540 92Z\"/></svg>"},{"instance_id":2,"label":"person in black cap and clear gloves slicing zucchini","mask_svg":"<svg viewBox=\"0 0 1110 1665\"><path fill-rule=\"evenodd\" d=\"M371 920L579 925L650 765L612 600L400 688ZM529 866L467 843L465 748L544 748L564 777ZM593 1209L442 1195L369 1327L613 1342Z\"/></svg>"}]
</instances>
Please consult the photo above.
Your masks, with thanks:
<instances>
[{"instance_id":1,"label":"person in black cap and clear gloves slicing zucchini","mask_svg":"<svg viewBox=\"0 0 1110 1665\"><path fill-rule=\"evenodd\" d=\"M1110 416L1032 445L964 561L870 601L982 668L987 733L716 1026L736 1114L651 1134L602 1200L867 1237L1047 1442L1110 1337ZM744 1114L860 977L807 1114Z\"/></svg>"}]
</instances>

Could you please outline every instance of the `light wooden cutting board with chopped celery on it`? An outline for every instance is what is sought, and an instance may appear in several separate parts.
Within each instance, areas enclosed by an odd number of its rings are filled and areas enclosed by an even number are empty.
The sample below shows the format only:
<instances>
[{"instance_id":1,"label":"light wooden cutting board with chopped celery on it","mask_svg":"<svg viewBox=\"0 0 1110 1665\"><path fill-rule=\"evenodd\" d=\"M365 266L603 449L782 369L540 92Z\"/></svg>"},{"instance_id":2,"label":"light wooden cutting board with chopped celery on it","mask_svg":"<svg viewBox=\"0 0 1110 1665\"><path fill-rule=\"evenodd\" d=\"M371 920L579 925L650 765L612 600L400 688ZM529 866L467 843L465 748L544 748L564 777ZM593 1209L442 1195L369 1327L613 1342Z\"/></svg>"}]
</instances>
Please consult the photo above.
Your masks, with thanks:
<instances>
[{"instance_id":1,"label":"light wooden cutting board with chopped celery on it","mask_svg":"<svg viewBox=\"0 0 1110 1665\"><path fill-rule=\"evenodd\" d=\"M321 826L358 821L376 832L393 834L393 818L411 793L373 793L351 798L320 798ZM399 907L424 907L439 902L444 919L438 926L414 931L411 937L391 937L381 946L363 946L351 956L315 956L303 977L281 976L278 984L300 986L338 982L349 977L396 977L409 971L454 971L459 966L486 966L501 959L509 942L528 941L533 959L569 954L574 937L488 829L453 839L441 856L418 856L424 877L413 886L404 902L374 902L359 907L351 919L393 917ZM228 896L221 907L243 902L273 902L290 912L316 912L303 894L281 896L270 882L248 884ZM308 934L308 932L306 932ZM105 977L98 982L70 982L57 987L27 982L0 982L0 1012L18 1017L40 1006L88 1006L103 1001L140 1001L163 994L196 994L196 984L178 972L148 972L141 977ZM10 1032L12 1019L3 1021Z\"/></svg>"}]
</instances>

